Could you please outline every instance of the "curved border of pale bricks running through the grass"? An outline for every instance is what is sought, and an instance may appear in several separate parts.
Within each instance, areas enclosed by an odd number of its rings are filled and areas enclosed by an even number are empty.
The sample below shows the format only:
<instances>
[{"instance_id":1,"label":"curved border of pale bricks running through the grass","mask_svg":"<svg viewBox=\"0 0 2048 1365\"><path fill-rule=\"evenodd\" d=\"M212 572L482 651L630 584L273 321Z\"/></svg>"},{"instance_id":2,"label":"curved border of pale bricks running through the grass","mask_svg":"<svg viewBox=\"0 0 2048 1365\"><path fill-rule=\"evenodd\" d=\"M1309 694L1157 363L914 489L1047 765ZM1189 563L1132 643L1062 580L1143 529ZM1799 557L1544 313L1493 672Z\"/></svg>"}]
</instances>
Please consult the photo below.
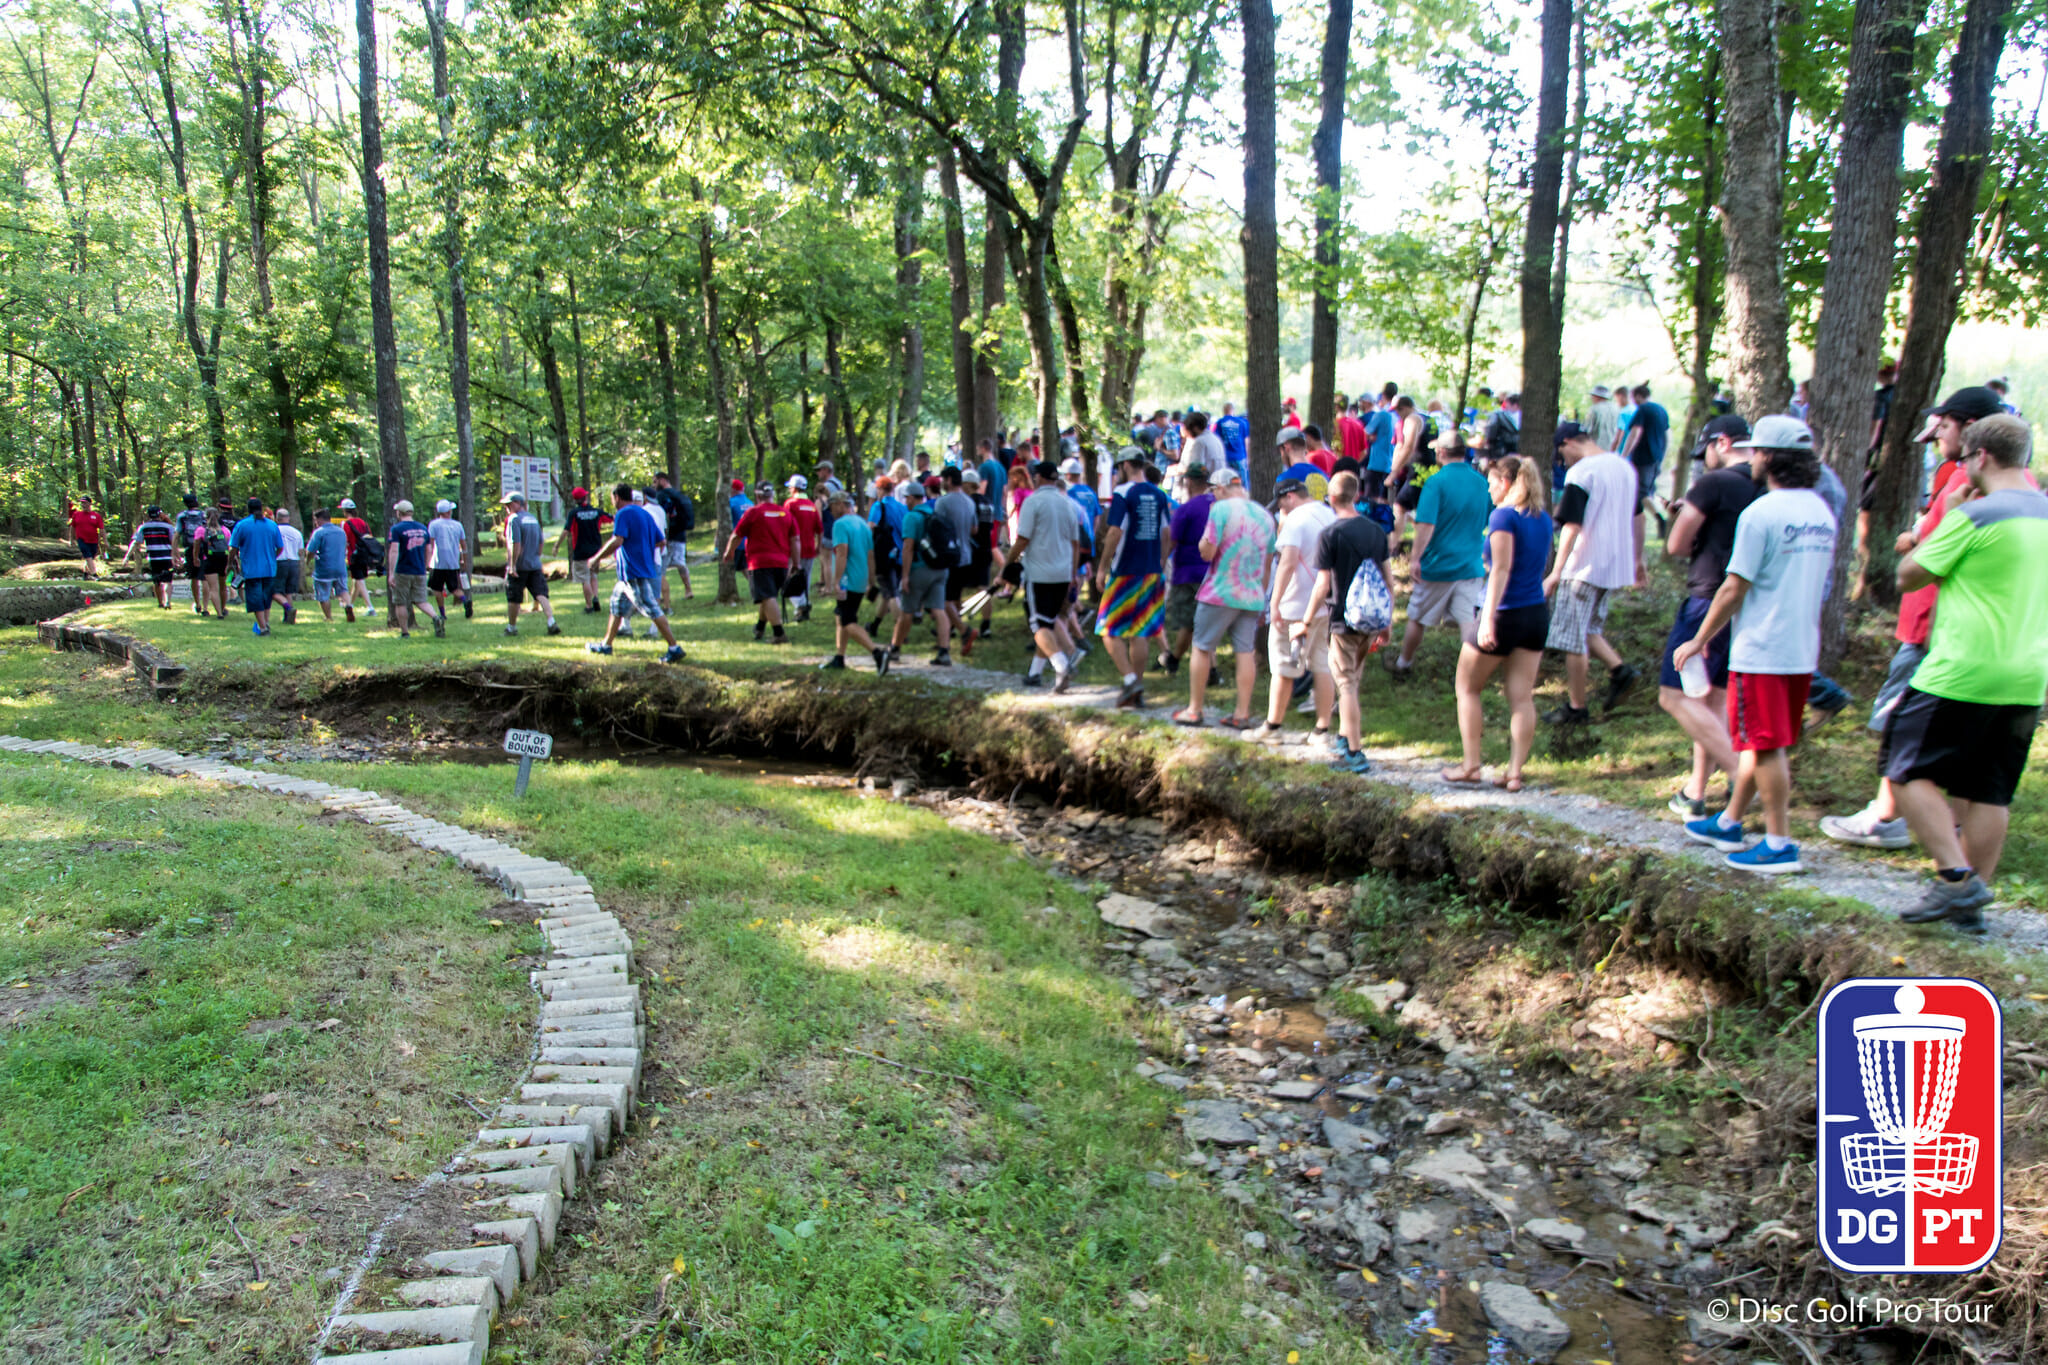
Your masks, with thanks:
<instances>
[{"instance_id":1,"label":"curved border of pale bricks running through the grass","mask_svg":"<svg viewBox=\"0 0 2048 1365\"><path fill-rule=\"evenodd\" d=\"M45 628L57 622L45 622ZM63 626L63 630L76 630ZM113 634L113 632L98 632ZM61 649L61 645L59 645ZM139 667L139 665L137 665ZM446 853L535 909L549 960L530 974L541 997L535 1054L518 1095L500 1101L489 1124L377 1228L313 1342L315 1365L483 1365L498 1310L535 1277L555 1246L563 1199L610 1152L639 1105L647 1013L633 980L633 939L598 907L590 880L547 857L475 835L358 788L195 759L170 749L98 749L61 739L0 735L0 753L49 753L80 763L197 778L317 802L322 810ZM420 1279L397 1285L387 1310L350 1312L383 1236L426 1189L455 1183L475 1191L467 1240L418 1259ZM360 1355L326 1355L336 1332L379 1338L436 1338Z\"/></svg>"}]
</instances>

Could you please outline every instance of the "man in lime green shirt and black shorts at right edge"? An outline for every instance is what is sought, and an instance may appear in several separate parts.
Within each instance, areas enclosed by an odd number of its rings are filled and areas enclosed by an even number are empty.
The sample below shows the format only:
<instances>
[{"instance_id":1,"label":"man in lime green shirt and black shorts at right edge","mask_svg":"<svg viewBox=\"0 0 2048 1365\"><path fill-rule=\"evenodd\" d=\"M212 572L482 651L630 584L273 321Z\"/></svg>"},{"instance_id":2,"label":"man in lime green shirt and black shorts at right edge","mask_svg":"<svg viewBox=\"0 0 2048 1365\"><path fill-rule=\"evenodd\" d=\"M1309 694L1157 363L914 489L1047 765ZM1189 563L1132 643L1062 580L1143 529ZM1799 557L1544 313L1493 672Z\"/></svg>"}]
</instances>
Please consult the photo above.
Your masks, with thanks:
<instances>
[{"instance_id":1,"label":"man in lime green shirt and black shorts at right edge","mask_svg":"<svg viewBox=\"0 0 2048 1365\"><path fill-rule=\"evenodd\" d=\"M2007 808L2048 694L2048 497L2028 477L2034 436L2009 413L1962 434L1968 487L1898 563L1898 589L1942 585L1927 659L1884 724L1878 763L1913 837L1933 855L1907 923L1985 931ZM1958 833L1960 831L1960 833Z\"/></svg>"}]
</instances>

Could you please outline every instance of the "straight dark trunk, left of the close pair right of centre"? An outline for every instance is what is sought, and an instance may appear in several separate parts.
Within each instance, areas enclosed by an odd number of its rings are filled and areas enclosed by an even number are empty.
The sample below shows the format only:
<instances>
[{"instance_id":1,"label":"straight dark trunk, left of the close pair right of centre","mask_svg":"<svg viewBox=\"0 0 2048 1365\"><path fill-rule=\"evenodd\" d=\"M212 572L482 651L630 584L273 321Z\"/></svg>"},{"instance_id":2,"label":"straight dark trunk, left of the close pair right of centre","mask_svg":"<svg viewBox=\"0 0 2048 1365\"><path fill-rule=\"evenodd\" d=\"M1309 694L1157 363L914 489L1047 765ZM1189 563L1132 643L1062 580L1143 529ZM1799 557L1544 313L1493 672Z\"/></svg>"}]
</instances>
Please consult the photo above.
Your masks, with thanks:
<instances>
[{"instance_id":1,"label":"straight dark trunk, left of the close pair right of centre","mask_svg":"<svg viewBox=\"0 0 2048 1365\"><path fill-rule=\"evenodd\" d=\"M1280 205L1274 6L1245 0L1245 417L1251 497L1266 501L1280 477Z\"/></svg>"}]
</instances>

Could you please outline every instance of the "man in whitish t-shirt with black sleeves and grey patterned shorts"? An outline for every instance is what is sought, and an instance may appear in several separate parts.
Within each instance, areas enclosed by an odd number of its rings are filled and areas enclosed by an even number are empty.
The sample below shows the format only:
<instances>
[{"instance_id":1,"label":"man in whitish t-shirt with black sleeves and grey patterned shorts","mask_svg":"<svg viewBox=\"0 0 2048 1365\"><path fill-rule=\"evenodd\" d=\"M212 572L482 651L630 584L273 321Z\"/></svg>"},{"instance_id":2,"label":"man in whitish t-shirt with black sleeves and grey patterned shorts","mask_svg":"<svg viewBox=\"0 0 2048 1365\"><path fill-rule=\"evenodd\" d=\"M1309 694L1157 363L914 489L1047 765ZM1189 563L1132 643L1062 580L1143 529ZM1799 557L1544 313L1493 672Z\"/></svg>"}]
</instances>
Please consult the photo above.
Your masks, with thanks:
<instances>
[{"instance_id":1,"label":"man in whitish t-shirt with black sleeves and grey patterned shorts","mask_svg":"<svg viewBox=\"0 0 2048 1365\"><path fill-rule=\"evenodd\" d=\"M1556 505L1556 559L1544 579L1550 600L1548 649L1565 655L1565 706L1552 724L1585 724L1587 657L1608 665L1604 706L1614 708L1636 681L1636 671L1608 645L1608 606L1640 577L1634 518L1636 471L1612 450L1602 450L1577 422L1561 422L1552 442L1565 460L1565 493Z\"/></svg>"}]
</instances>

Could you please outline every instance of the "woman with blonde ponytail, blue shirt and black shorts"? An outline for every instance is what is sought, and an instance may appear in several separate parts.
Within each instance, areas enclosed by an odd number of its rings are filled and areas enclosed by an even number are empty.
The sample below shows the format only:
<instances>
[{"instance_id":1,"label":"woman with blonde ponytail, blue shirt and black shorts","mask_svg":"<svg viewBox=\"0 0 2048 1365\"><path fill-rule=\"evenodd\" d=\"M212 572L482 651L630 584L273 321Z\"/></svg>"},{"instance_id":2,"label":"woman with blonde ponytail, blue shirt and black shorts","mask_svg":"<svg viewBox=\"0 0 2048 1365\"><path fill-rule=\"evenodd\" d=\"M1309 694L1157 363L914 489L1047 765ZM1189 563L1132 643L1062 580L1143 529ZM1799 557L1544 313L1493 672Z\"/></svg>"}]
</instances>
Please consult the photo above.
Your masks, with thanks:
<instances>
[{"instance_id":1,"label":"woman with blonde ponytail, blue shirt and black shorts","mask_svg":"<svg viewBox=\"0 0 2048 1365\"><path fill-rule=\"evenodd\" d=\"M1493 516L1487 518L1487 600L1479 608L1479 639L1458 653L1458 737L1464 763L1444 769L1444 782L1481 780L1481 692L1507 665L1507 769L1493 786L1522 790L1522 765L1536 743L1536 671L1542 667L1550 608L1542 573L1550 563L1554 526L1544 510L1544 475L1536 460L1505 456L1487 471Z\"/></svg>"}]
</instances>

